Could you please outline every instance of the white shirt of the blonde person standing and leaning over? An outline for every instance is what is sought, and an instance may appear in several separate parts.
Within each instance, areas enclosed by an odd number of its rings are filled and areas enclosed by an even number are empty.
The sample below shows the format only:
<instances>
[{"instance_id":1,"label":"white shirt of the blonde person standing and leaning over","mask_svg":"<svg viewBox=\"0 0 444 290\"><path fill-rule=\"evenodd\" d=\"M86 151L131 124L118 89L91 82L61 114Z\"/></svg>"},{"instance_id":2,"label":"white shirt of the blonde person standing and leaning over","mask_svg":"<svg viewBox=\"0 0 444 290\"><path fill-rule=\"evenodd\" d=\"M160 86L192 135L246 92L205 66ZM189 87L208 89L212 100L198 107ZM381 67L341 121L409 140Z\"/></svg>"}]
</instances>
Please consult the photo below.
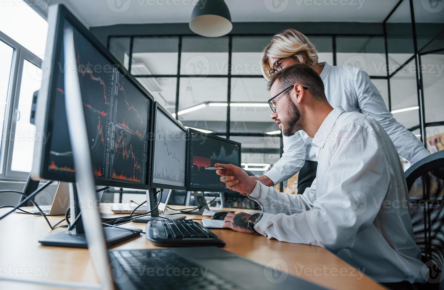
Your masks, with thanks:
<instances>
[{"instance_id":1,"label":"white shirt of the blonde person standing and leaning over","mask_svg":"<svg viewBox=\"0 0 444 290\"><path fill-rule=\"evenodd\" d=\"M320 76L330 105L374 118L389 134L399 155L415 163L430 154L412 132L393 118L378 89L363 69L329 66L325 63ZM278 184L299 172L305 160L316 161L316 152L311 143L312 138L304 131L298 131L290 137L284 136L284 153L265 175L274 184Z\"/></svg>"}]
</instances>

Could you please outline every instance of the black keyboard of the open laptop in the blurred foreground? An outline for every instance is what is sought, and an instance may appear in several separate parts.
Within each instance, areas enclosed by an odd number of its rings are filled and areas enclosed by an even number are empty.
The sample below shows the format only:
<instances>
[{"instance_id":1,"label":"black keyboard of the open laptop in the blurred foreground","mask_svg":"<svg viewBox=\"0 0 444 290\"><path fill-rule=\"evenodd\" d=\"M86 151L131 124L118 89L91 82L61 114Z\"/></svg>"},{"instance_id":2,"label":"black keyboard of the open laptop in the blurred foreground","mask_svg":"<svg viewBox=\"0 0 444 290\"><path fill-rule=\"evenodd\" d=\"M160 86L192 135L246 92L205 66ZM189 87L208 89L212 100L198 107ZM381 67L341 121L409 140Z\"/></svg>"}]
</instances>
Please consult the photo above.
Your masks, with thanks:
<instances>
[{"instance_id":1,"label":"black keyboard of the open laptop in the blurred foreground","mask_svg":"<svg viewBox=\"0 0 444 290\"><path fill-rule=\"evenodd\" d=\"M111 273L120 289L125 288L123 283L128 277L137 289L239 289L229 280L169 249L115 250L109 253L111 263L117 268ZM189 271L182 275L178 274L178 269ZM123 272L127 277L122 275Z\"/></svg>"}]
</instances>

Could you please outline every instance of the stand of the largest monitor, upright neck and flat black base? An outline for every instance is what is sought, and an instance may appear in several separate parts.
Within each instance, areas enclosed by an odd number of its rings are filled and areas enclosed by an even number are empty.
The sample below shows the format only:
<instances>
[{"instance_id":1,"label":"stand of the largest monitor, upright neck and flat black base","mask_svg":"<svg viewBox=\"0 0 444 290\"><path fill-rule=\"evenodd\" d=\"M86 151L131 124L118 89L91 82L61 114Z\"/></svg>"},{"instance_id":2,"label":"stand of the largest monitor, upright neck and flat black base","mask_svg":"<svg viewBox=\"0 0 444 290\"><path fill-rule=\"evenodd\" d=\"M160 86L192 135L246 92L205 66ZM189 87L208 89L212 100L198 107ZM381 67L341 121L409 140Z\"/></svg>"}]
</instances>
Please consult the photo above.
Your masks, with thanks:
<instances>
[{"instance_id":1,"label":"stand of the largest monitor, upright neck and flat black base","mask_svg":"<svg viewBox=\"0 0 444 290\"><path fill-rule=\"evenodd\" d=\"M69 195L70 195L70 212L71 219L73 222L75 217L79 215L80 206L79 199L77 196L77 189L75 184L69 184ZM93 205L95 206L95 205ZM115 227L103 227L103 231L105 232L106 244L108 247L122 243L128 239L132 239L140 236L140 229L132 229L134 231L127 231ZM79 216L79 220L75 224L75 226L67 231L59 231L52 233L50 235L44 236L39 240L39 243L42 246L51 246L51 247L70 247L70 248L84 248L88 247L85 231L83 229L83 221L82 217Z\"/></svg>"}]
</instances>

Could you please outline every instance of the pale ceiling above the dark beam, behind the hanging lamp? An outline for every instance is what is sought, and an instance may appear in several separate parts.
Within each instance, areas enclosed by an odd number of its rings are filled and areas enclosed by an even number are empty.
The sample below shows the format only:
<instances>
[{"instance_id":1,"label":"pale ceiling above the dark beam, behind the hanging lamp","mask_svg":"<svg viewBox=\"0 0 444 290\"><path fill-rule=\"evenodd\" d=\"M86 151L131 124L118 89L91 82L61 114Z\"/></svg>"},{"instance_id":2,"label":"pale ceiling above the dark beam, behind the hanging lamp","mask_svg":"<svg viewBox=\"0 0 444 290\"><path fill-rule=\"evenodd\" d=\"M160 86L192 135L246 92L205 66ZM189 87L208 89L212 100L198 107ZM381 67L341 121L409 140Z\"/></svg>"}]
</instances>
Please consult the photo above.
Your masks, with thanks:
<instances>
[{"instance_id":1,"label":"pale ceiling above the dark beam, behind the hanging lamp","mask_svg":"<svg viewBox=\"0 0 444 290\"><path fill-rule=\"evenodd\" d=\"M45 1L34 1L47 11ZM197 0L49 0L64 3L87 27L187 23ZM206 0L210 1L210 0ZM382 22L398 0L225 0L232 22Z\"/></svg>"}]
</instances>

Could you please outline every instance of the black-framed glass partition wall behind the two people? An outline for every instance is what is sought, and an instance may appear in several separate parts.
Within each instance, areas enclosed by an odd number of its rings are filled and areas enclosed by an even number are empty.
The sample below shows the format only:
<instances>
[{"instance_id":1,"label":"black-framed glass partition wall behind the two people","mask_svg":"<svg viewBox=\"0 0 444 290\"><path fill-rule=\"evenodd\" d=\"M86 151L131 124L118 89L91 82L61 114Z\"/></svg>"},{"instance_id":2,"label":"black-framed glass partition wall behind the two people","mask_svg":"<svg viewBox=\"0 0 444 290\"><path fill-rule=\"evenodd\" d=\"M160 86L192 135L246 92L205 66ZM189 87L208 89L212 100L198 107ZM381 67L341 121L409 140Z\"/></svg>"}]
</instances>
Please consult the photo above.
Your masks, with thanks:
<instances>
[{"instance_id":1,"label":"black-framed glass partition wall behind the two people","mask_svg":"<svg viewBox=\"0 0 444 290\"><path fill-rule=\"evenodd\" d=\"M281 132L270 119L271 110L266 102L270 98L270 92L266 90L266 80L262 77L260 67L262 50L272 37L273 35L228 35L219 38L188 35L131 37L130 34L127 37L111 36L108 43L110 50L124 62L127 59L126 54L132 51L128 58L131 61L131 73L173 116L178 113L177 118L184 126L240 141L243 146L243 162L250 164L246 165L247 168L252 168L260 176L279 160L281 152ZM340 48L353 43L351 48L345 47L338 52L344 53L337 56L338 59L347 60L350 55L346 54L349 52L362 56L367 62L371 62L366 69L370 75L386 76L385 71L381 72L382 66L379 67L377 63L381 59L385 61L384 39L380 35L307 37L318 51L319 62L334 64L335 37ZM229 59L231 66L228 65ZM372 81L388 106L387 80L373 78ZM227 116L228 110L230 114ZM297 184L297 176L293 181Z\"/></svg>"}]
</instances>

